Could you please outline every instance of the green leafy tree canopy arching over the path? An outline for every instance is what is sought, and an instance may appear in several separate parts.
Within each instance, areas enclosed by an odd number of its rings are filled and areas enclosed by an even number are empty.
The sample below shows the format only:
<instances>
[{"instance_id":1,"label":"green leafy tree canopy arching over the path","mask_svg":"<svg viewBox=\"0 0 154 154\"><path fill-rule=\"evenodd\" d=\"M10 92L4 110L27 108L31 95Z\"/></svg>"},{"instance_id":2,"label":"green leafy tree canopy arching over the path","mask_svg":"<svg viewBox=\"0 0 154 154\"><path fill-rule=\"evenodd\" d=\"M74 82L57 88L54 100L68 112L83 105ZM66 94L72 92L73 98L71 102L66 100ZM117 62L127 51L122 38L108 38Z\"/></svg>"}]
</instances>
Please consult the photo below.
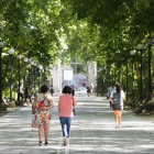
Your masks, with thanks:
<instances>
[{"instance_id":1,"label":"green leafy tree canopy arching over the path","mask_svg":"<svg viewBox=\"0 0 154 154\"><path fill-rule=\"evenodd\" d=\"M63 65L77 59L82 64L78 65L80 73L86 72L87 62L97 62L98 70L108 68L108 73L100 73L98 79L99 82L106 80L108 87L110 80L107 78L112 72L116 72L116 80L122 67L125 72L129 65L131 73L130 51L138 50L138 44L145 43L147 36L154 37L153 19L153 0L1 0L0 37L6 44L2 55L3 87L8 89L10 81L10 57L6 53L11 46L15 50L14 85L18 85L15 56L20 53L44 68L55 65L58 58ZM147 52L143 52L143 64L148 63L147 57ZM135 65L139 85L140 52L135 55ZM25 64L22 61L21 67L24 78ZM143 65L144 75L147 74L146 68ZM145 80L147 76L144 77Z\"/></svg>"}]
</instances>

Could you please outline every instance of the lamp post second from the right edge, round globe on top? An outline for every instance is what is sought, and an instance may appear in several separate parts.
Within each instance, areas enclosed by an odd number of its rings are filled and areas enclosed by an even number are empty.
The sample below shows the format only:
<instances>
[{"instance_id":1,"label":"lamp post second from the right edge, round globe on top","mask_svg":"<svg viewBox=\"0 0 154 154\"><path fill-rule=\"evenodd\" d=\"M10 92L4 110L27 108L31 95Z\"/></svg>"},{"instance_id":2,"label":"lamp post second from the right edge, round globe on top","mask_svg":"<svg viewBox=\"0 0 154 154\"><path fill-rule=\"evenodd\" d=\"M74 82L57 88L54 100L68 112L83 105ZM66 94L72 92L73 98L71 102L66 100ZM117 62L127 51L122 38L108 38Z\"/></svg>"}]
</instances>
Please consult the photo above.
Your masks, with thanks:
<instances>
[{"instance_id":1,"label":"lamp post second from the right edge, round globe on top","mask_svg":"<svg viewBox=\"0 0 154 154\"><path fill-rule=\"evenodd\" d=\"M141 99L141 103L142 103L142 51L144 48L144 45L143 44L139 44L138 45L138 48L140 50L140 54L141 54L141 67L140 67L140 99Z\"/></svg>"}]
</instances>

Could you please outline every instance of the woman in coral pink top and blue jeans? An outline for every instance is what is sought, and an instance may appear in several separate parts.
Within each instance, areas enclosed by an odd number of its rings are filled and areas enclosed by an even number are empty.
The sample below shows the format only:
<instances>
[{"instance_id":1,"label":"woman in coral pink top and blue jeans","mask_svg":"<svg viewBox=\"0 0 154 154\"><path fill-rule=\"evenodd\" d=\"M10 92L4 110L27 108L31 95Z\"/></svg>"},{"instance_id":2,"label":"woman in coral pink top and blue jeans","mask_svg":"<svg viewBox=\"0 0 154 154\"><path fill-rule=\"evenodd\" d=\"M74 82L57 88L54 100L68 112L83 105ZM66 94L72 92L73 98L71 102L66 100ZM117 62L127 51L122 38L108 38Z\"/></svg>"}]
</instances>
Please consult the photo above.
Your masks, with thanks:
<instances>
[{"instance_id":1,"label":"woman in coral pink top and blue jeans","mask_svg":"<svg viewBox=\"0 0 154 154\"><path fill-rule=\"evenodd\" d=\"M67 145L69 133L70 133L70 124L74 117L73 106L74 107L76 106L76 100L73 96L70 96L72 88L69 86L64 87L63 94L65 95L61 96L58 100L58 111L59 111L59 121L61 121L63 136L64 136L64 145Z\"/></svg>"}]
</instances>

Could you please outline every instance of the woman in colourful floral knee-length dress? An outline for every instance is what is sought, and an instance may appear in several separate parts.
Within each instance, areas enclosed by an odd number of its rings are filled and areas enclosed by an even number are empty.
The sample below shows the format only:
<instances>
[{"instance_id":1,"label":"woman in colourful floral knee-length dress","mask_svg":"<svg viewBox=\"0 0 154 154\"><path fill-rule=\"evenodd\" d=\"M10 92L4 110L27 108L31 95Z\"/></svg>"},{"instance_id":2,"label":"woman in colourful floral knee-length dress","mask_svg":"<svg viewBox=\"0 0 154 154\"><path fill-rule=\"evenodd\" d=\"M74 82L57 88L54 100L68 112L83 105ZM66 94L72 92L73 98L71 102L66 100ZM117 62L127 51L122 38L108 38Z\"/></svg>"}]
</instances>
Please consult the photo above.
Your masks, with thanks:
<instances>
[{"instance_id":1,"label":"woman in colourful floral knee-length dress","mask_svg":"<svg viewBox=\"0 0 154 154\"><path fill-rule=\"evenodd\" d=\"M48 144L48 127L52 117L52 108L54 108L53 98L46 85L41 87L41 94L35 98L33 103L35 108L32 128L38 128L38 145L42 146L42 134L44 129L45 145Z\"/></svg>"}]
</instances>

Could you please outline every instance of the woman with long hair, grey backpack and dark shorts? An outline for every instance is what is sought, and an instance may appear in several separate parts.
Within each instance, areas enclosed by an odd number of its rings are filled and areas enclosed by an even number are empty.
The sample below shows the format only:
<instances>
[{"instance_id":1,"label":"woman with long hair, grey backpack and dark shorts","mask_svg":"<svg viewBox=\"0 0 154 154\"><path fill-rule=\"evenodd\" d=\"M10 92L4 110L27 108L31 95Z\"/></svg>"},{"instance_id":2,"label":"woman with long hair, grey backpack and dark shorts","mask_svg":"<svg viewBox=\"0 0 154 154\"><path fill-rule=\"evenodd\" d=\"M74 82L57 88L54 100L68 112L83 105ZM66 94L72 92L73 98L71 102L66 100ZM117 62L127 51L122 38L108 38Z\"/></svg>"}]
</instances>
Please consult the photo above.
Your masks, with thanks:
<instances>
[{"instance_id":1,"label":"woman with long hair, grey backpack and dark shorts","mask_svg":"<svg viewBox=\"0 0 154 154\"><path fill-rule=\"evenodd\" d=\"M114 112L116 128L121 128L121 114L123 110L123 100L125 99L124 91L121 89L120 84L116 85L116 90L111 92L110 100L112 101L112 109Z\"/></svg>"}]
</instances>

